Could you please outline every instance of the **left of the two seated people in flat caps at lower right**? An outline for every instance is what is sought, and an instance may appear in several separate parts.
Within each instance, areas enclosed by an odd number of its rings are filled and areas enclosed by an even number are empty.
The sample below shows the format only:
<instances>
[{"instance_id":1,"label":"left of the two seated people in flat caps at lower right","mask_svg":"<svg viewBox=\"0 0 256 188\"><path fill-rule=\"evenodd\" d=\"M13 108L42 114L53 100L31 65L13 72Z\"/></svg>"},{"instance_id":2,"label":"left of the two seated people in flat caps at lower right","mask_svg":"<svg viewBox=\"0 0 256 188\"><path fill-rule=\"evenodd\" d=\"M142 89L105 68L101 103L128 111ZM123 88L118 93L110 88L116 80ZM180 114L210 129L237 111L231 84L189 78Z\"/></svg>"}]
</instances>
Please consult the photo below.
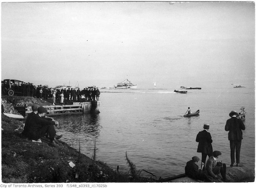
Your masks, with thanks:
<instances>
[{"instance_id":1,"label":"left of the two seated people in flat caps at lower right","mask_svg":"<svg viewBox=\"0 0 256 188\"><path fill-rule=\"evenodd\" d=\"M193 179L210 181L206 174L204 174L202 170L199 170L199 167L196 164L199 160L200 159L197 156L192 157L192 160L187 162L185 167L185 174Z\"/></svg>"}]
</instances>

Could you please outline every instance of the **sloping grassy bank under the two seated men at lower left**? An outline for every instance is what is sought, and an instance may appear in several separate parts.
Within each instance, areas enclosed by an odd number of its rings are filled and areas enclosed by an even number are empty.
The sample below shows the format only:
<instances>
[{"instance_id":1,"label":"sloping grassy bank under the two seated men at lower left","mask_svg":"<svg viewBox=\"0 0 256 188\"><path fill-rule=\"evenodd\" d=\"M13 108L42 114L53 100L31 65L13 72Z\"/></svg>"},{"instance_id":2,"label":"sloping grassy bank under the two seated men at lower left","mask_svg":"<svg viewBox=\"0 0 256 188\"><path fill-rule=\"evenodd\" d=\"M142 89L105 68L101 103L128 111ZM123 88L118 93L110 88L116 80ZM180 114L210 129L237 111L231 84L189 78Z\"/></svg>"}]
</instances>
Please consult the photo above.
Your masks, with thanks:
<instances>
[{"instance_id":1,"label":"sloping grassy bank under the two seated men at lower left","mask_svg":"<svg viewBox=\"0 0 256 188\"><path fill-rule=\"evenodd\" d=\"M2 98L2 104L3 101L10 105L5 98ZM16 97L15 101L20 99ZM65 142L59 141L59 147L50 147L49 139L43 138L42 143L31 142L24 138L21 132L22 122L2 114L2 182L4 183L154 182L152 179L139 176L139 172L130 161L128 163L130 173L124 174L97 161L94 157L91 159L81 154ZM72 168L69 162L74 163L75 166Z\"/></svg>"}]
</instances>

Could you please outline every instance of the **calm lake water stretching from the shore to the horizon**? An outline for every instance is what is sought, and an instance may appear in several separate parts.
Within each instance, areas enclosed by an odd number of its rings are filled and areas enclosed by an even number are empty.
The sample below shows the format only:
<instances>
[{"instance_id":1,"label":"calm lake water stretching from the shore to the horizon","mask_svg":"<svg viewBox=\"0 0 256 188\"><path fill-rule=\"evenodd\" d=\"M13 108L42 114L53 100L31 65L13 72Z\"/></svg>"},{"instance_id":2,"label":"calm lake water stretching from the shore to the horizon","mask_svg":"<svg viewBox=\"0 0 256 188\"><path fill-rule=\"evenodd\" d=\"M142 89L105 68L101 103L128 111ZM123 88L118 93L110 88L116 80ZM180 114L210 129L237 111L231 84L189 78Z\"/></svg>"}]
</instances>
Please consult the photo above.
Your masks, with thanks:
<instances>
[{"instance_id":1,"label":"calm lake water stretching from the shore to the horizon","mask_svg":"<svg viewBox=\"0 0 256 188\"><path fill-rule=\"evenodd\" d=\"M224 127L231 110L245 106L246 120L241 146L241 164L254 172L255 114L254 86L251 88L203 88L174 93L174 89L100 90L100 113L55 117L62 141L83 154L93 156L113 169L127 172L125 153L137 170L157 178L184 173L185 165L197 153L196 135L210 124L213 150L230 165L228 132ZM184 118L187 108L200 115ZM208 159L208 157L207 157ZM142 171L141 175L150 176Z\"/></svg>"}]
</instances>

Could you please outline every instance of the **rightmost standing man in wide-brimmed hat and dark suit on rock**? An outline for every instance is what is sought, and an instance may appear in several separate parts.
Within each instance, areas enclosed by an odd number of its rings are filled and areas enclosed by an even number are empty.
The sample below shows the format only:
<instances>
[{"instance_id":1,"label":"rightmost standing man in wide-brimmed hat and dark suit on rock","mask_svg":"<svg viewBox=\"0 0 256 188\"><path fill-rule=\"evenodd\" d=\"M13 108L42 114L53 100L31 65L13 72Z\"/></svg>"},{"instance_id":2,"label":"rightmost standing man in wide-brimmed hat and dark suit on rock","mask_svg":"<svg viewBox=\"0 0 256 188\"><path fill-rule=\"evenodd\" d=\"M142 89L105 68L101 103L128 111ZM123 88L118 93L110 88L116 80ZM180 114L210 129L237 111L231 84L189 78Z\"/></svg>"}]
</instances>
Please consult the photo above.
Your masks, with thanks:
<instances>
[{"instance_id":1,"label":"rightmost standing man in wide-brimmed hat and dark suit on rock","mask_svg":"<svg viewBox=\"0 0 256 188\"><path fill-rule=\"evenodd\" d=\"M234 151L236 150L236 166L239 167L240 163L240 149L243 139L242 130L245 130L244 123L241 119L236 118L238 113L236 111L231 111L229 113L230 119L227 120L225 125L225 131L229 131L228 140L230 141L230 157L231 164L230 167L234 167Z\"/></svg>"}]
</instances>

